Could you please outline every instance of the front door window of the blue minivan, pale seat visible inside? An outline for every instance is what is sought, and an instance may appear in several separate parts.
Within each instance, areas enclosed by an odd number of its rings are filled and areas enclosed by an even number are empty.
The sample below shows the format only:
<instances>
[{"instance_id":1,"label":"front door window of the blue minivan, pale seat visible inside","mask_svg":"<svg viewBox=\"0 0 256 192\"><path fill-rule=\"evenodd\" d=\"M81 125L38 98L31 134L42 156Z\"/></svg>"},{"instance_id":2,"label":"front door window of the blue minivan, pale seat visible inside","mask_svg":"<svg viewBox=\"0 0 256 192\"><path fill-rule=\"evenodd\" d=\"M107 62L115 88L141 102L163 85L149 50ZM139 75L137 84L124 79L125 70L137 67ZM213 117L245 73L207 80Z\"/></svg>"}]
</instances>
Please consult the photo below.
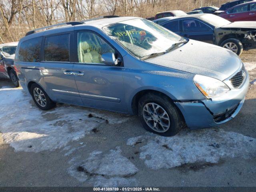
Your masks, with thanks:
<instances>
[{"instance_id":1,"label":"front door window of the blue minivan, pale seat visible inside","mask_svg":"<svg viewBox=\"0 0 256 192\"><path fill-rule=\"evenodd\" d=\"M105 40L92 32L78 32L77 46L80 63L103 63L102 54L115 54L115 50Z\"/></svg>"}]
</instances>

